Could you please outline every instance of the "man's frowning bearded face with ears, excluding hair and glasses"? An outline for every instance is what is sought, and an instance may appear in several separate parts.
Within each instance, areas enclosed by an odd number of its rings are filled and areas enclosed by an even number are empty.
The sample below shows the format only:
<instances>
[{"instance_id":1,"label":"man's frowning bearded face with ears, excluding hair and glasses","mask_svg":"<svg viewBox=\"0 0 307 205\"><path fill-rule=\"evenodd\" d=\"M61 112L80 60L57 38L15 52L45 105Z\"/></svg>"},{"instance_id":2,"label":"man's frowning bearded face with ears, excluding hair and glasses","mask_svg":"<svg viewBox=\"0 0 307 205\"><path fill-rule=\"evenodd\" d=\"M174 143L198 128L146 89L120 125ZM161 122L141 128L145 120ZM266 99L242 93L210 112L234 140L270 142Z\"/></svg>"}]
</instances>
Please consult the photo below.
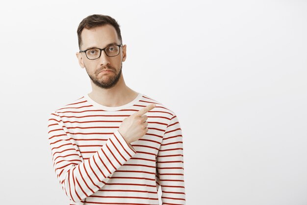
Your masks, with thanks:
<instances>
[{"instance_id":1,"label":"man's frowning bearded face with ears, excluding hair and glasses","mask_svg":"<svg viewBox=\"0 0 307 205\"><path fill-rule=\"evenodd\" d=\"M120 44L116 30L111 25L103 25L93 29L83 29L81 32L82 45L81 50L88 48L105 48L108 44ZM79 64L85 70L92 82L100 88L112 88L122 77L122 65L126 60L126 45L120 48L120 53L115 57L108 57L102 51L99 59L87 59L84 52L76 53ZM111 70L112 72L101 72L102 70Z\"/></svg>"}]
</instances>

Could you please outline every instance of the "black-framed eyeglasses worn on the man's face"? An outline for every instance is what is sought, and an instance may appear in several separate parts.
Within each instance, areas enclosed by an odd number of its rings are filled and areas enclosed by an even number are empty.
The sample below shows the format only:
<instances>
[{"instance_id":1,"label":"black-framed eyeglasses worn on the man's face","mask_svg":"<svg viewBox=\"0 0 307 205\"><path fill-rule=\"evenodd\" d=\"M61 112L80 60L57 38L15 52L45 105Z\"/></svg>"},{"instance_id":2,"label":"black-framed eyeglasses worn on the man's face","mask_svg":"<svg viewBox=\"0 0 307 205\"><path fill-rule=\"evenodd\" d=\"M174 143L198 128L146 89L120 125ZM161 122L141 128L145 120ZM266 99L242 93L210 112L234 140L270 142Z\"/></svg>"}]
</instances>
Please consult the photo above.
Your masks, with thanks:
<instances>
[{"instance_id":1,"label":"black-framed eyeglasses worn on the man's face","mask_svg":"<svg viewBox=\"0 0 307 205\"><path fill-rule=\"evenodd\" d=\"M108 57L114 57L117 56L119 54L120 51L120 47L123 44L120 45L110 45L107 46L105 48L90 48L84 51L79 51L79 53L84 52L86 55L86 58L90 59L90 60L95 60L95 59L99 59L101 56L101 52L104 51L105 55L107 55Z\"/></svg>"}]
</instances>

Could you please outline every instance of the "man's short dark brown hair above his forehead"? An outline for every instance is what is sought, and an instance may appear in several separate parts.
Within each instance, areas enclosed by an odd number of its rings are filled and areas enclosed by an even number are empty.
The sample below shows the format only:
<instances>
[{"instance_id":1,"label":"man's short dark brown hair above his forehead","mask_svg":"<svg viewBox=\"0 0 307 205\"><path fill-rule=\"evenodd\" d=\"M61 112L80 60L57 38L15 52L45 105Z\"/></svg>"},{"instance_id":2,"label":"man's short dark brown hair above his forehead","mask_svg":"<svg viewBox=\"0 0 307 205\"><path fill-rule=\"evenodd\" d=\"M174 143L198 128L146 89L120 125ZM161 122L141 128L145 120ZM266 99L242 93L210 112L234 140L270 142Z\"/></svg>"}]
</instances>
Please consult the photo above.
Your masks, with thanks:
<instances>
[{"instance_id":1,"label":"man's short dark brown hair above his forehead","mask_svg":"<svg viewBox=\"0 0 307 205\"><path fill-rule=\"evenodd\" d=\"M81 44L82 44L82 39L81 39L81 32L82 30L85 29L93 29L99 26L103 26L109 24L113 26L117 32L118 39L120 40L120 44L122 44L122 35L121 35L121 29L119 28L119 24L115 19L113 19L110 16L102 15L102 14L93 14L90 15L86 18L84 18L77 29L77 34L78 34L78 44L79 44L79 49L81 49Z\"/></svg>"}]
</instances>

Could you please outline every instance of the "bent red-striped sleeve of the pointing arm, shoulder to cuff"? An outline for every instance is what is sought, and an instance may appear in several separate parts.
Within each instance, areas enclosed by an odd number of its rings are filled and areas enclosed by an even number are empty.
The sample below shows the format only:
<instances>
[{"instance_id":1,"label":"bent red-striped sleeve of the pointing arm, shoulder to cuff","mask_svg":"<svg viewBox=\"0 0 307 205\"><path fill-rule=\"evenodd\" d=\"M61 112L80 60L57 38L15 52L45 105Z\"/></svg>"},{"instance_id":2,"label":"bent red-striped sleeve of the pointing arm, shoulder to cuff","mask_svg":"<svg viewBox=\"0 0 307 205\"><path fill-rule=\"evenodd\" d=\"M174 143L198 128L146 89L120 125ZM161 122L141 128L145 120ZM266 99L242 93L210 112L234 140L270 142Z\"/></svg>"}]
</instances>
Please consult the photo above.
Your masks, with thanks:
<instances>
[{"instance_id":1,"label":"bent red-striped sleeve of the pointing arm, shoulder to cuff","mask_svg":"<svg viewBox=\"0 0 307 205\"><path fill-rule=\"evenodd\" d=\"M51 113L48 137L53 167L62 189L74 202L80 202L102 188L109 177L136 154L116 130L97 152L83 160L75 140L65 130L58 113Z\"/></svg>"}]
</instances>

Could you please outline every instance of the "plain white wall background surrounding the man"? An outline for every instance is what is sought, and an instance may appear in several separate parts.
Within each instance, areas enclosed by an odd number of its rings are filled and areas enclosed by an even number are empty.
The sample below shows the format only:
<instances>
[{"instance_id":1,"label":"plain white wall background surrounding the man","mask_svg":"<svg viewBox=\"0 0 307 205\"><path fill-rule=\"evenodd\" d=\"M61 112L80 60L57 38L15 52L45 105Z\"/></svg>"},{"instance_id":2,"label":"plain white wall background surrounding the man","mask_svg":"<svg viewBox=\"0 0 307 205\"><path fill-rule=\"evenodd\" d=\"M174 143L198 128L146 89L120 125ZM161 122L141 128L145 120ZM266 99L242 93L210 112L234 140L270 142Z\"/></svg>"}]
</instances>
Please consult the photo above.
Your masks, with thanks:
<instances>
[{"instance_id":1,"label":"plain white wall background surrounding the man","mask_svg":"<svg viewBox=\"0 0 307 205\"><path fill-rule=\"evenodd\" d=\"M47 120L91 91L75 53L96 13L127 85L179 117L187 205L307 205L306 0L1 3L1 204L68 205Z\"/></svg>"}]
</instances>

